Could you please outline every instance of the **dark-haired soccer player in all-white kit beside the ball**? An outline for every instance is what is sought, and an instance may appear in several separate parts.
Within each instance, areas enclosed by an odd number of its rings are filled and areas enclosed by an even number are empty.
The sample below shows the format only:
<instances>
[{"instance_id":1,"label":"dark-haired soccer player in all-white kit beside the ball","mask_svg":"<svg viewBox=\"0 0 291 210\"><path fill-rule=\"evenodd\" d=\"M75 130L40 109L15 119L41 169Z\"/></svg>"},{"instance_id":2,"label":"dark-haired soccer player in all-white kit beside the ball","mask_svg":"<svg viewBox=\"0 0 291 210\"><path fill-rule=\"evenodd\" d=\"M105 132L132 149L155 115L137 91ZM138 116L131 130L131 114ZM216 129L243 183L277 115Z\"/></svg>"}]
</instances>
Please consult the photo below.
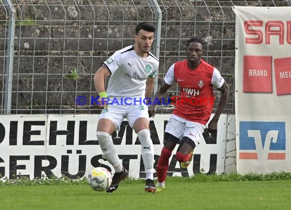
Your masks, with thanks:
<instances>
[{"instance_id":1,"label":"dark-haired soccer player in all-white kit beside the ball","mask_svg":"<svg viewBox=\"0 0 291 210\"><path fill-rule=\"evenodd\" d=\"M148 106L143 102L154 88L159 60L150 52L154 41L155 27L141 22L135 28L135 43L120 49L105 61L94 75L94 85L104 108L99 118L97 139L106 160L114 167L111 186L106 192L117 189L119 182L128 176L122 161L115 151L111 134L119 131L120 124L127 118L141 143L141 156L146 171L147 192L155 192L154 146L149 128ZM110 76L105 92L104 78Z\"/></svg>"}]
</instances>

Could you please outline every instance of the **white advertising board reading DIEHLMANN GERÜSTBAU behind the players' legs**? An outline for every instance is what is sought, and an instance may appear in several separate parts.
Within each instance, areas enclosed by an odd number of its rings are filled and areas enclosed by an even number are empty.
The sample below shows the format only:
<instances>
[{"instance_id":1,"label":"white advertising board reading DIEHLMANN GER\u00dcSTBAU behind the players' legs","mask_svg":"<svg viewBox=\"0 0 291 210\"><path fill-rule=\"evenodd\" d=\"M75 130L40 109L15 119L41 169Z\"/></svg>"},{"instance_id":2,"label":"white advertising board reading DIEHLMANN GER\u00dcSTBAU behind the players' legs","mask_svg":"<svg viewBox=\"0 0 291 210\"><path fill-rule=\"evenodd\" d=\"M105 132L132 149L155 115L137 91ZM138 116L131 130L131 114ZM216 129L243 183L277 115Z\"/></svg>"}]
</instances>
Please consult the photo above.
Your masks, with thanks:
<instances>
[{"instance_id":1,"label":"white advertising board reading DIEHLMANN GER\u00dcSTBAU behind the players' legs","mask_svg":"<svg viewBox=\"0 0 291 210\"><path fill-rule=\"evenodd\" d=\"M60 177L72 179L87 176L93 167L110 164L102 159L96 139L99 115L2 115L0 118L0 174L2 179L27 176ZM169 115L151 118L150 130L155 147L155 165L159 158L164 127ZM221 174L225 171L227 115L222 115L217 137L207 136L196 147L193 162L187 169L177 163L173 152L169 176L192 176L195 173ZM130 177L144 178L140 143L127 121L112 135L113 142ZM176 148L177 149L177 148ZM156 176L156 174L154 174Z\"/></svg>"}]
</instances>

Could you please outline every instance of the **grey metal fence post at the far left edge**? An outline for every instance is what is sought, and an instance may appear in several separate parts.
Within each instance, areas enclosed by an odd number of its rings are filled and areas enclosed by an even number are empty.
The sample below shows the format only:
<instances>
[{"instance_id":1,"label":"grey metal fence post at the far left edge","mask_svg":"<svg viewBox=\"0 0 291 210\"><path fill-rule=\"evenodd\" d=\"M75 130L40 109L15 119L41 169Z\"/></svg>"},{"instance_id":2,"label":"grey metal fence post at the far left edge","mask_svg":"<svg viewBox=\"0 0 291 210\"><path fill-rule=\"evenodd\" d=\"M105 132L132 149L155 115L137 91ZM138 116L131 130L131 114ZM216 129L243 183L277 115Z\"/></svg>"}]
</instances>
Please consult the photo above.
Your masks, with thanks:
<instances>
[{"instance_id":1,"label":"grey metal fence post at the far left edge","mask_svg":"<svg viewBox=\"0 0 291 210\"><path fill-rule=\"evenodd\" d=\"M7 45L7 59L5 68L5 98L4 110L6 114L11 114L11 97L12 97L12 78L13 78L13 56L14 56L14 34L15 34L15 16L11 0L3 0L9 11L9 26L8 26L8 45ZM8 7L9 6L9 7Z\"/></svg>"}]
</instances>

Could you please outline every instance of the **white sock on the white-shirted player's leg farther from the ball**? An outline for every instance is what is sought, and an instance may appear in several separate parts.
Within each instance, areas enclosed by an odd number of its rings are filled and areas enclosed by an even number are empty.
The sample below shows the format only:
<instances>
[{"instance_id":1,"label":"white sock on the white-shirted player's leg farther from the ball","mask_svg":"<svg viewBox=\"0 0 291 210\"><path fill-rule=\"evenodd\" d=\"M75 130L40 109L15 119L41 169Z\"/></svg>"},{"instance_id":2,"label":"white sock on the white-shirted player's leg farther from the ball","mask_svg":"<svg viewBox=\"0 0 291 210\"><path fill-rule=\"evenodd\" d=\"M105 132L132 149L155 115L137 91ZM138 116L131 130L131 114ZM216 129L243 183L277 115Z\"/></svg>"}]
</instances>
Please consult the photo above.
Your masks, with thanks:
<instances>
[{"instance_id":1,"label":"white sock on the white-shirted player's leg farther from the ball","mask_svg":"<svg viewBox=\"0 0 291 210\"><path fill-rule=\"evenodd\" d=\"M138 132L137 137L141 144L141 156L146 171L146 179L154 179L154 145L149 129Z\"/></svg>"}]
</instances>

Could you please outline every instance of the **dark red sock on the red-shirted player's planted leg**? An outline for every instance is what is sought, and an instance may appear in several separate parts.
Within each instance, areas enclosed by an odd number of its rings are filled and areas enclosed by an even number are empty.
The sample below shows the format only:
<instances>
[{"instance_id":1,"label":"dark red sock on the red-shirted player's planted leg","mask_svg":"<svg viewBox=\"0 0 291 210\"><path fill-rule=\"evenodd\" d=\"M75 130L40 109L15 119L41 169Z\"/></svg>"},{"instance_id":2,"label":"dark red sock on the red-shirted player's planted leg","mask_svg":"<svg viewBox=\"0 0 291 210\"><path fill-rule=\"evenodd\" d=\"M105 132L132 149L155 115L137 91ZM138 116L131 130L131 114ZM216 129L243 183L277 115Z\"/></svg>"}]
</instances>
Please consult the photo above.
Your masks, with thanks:
<instances>
[{"instance_id":1,"label":"dark red sock on the red-shirted player's planted leg","mask_svg":"<svg viewBox=\"0 0 291 210\"><path fill-rule=\"evenodd\" d=\"M169 158L171 157L171 155L172 150L163 147L157 165L158 182L163 182L166 180L167 170L169 167Z\"/></svg>"}]
</instances>

